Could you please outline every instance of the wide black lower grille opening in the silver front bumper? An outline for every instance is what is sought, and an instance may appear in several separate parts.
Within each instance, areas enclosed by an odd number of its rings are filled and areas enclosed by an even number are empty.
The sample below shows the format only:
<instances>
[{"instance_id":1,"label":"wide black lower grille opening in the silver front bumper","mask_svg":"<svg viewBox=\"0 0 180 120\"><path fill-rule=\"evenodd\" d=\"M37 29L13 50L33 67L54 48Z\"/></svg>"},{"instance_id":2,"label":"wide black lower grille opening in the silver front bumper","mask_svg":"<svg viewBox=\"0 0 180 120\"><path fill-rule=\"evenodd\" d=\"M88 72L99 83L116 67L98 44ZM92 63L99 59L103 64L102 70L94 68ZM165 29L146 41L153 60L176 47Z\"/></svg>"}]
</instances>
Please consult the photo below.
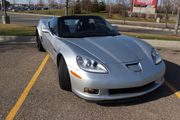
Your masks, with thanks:
<instances>
[{"instance_id":1,"label":"wide black lower grille opening in the silver front bumper","mask_svg":"<svg viewBox=\"0 0 180 120\"><path fill-rule=\"evenodd\" d=\"M114 95L114 94L125 94L125 93L138 93L150 89L151 87L153 87L154 84L155 82L151 82L141 87L109 89L109 94Z\"/></svg>"}]
</instances>

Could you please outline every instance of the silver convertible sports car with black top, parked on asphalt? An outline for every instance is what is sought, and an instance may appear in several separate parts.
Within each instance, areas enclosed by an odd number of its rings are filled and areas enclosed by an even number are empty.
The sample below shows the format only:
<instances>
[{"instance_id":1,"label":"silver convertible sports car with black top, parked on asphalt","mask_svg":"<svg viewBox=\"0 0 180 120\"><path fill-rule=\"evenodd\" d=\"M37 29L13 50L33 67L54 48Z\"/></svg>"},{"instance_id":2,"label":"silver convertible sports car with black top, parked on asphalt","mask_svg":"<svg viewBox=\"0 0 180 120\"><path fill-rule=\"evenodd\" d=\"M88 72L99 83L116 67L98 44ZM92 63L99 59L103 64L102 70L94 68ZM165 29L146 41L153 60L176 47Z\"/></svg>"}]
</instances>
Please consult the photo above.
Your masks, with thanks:
<instances>
[{"instance_id":1,"label":"silver convertible sports car with black top, parked on asphalt","mask_svg":"<svg viewBox=\"0 0 180 120\"><path fill-rule=\"evenodd\" d=\"M141 96L164 82L165 64L148 43L119 34L98 16L41 19L39 51L57 64L59 84L90 101Z\"/></svg>"}]
</instances>

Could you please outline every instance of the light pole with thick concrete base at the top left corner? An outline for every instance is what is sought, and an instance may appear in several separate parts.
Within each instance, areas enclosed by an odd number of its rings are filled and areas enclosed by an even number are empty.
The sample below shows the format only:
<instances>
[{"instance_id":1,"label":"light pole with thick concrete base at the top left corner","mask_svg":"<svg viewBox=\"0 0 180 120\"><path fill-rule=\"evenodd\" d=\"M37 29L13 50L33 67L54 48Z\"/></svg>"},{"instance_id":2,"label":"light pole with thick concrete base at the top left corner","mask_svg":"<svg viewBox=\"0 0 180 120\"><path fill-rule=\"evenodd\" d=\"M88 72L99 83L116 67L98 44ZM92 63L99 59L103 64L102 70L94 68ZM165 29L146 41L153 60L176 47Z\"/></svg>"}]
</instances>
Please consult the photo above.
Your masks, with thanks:
<instances>
[{"instance_id":1,"label":"light pole with thick concrete base at the top left corner","mask_svg":"<svg viewBox=\"0 0 180 120\"><path fill-rule=\"evenodd\" d=\"M6 1L2 0L2 3L3 3L3 8L4 8L4 15L2 16L2 23L3 24L10 24L10 18L6 12Z\"/></svg>"}]
</instances>

